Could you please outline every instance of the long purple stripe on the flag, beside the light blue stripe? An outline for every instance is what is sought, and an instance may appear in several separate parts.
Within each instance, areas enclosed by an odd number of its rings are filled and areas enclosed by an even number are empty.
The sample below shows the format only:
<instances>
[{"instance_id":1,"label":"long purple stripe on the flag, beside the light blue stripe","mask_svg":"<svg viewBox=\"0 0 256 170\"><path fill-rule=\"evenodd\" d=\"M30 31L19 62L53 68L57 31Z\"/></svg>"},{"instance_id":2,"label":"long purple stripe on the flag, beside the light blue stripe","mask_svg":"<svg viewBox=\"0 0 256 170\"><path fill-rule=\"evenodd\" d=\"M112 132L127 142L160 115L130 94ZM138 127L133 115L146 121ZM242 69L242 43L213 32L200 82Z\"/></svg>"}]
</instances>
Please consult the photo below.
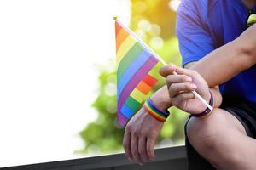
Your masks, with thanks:
<instances>
[{"instance_id":1,"label":"long purple stripe on the flag, beside the light blue stripe","mask_svg":"<svg viewBox=\"0 0 256 170\"><path fill-rule=\"evenodd\" d=\"M130 82L128 82L125 88L122 90L121 94L119 95L118 99L118 113L120 113L120 109L125 104L125 100L130 96L131 92L134 88L137 87L137 84L142 81L143 77L145 77L148 72L158 63L158 59L155 59L154 56L151 56L144 65L134 74L131 78ZM126 122L125 119L119 119L119 123L122 124Z\"/></svg>"}]
</instances>

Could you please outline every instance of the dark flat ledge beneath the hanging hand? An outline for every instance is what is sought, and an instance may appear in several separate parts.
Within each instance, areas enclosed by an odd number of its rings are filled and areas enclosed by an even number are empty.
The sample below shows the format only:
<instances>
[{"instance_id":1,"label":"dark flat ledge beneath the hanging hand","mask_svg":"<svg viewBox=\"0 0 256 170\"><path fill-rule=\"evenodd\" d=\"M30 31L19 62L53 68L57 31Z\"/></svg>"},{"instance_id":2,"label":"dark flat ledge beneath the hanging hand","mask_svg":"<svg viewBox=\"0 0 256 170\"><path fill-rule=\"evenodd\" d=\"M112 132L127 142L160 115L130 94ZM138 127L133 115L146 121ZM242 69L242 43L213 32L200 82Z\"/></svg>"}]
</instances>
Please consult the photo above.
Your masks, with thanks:
<instances>
[{"instance_id":1,"label":"dark flat ledge beneath the hanging hand","mask_svg":"<svg viewBox=\"0 0 256 170\"><path fill-rule=\"evenodd\" d=\"M187 169L185 149L183 146L156 150L156 159L152 162L137 165L128 161L125 154L96 156L83 159L54 161L18 167L3 167L6 170L183 170Z\"/></svg>"}]
</instances>

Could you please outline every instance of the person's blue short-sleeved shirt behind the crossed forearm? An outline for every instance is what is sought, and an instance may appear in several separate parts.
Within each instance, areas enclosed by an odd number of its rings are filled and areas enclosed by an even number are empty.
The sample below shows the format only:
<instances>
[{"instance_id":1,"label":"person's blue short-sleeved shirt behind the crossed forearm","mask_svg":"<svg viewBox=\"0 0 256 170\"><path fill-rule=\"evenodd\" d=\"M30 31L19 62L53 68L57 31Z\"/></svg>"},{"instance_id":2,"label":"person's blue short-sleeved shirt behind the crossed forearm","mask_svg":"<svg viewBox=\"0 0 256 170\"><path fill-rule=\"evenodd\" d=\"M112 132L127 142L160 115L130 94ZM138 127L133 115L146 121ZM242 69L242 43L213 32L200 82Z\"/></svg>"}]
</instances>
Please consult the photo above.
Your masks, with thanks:
<instances>
[{"instance_id":1,"label":"person's blue short-sleeved shirt behind the crossed forearm","mask_svg":"<svg viewBox=\"0 0 256 170\"><path fill-rule=\"evenodd\" d=\"M246 30L248 14L241 0L183 0L176 27L183 66L239 37ZM256 105L256 66L224 82L220 91Z\"/></svg>"}]
</instances>

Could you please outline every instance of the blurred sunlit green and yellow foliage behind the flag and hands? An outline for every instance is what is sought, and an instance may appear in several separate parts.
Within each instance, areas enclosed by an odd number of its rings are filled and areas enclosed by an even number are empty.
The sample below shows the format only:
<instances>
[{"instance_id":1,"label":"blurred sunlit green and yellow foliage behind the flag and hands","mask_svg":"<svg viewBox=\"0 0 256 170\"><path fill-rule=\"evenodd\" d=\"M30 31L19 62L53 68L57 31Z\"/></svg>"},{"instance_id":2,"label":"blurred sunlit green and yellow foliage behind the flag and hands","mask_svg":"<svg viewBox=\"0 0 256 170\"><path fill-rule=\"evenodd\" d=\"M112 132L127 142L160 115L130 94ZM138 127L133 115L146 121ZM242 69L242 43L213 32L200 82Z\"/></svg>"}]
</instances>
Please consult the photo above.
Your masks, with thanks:
<instances>
[{"instance_id":1,"label":"blurred sunlit green and yellow foliage behind the flag and hands","mask_svg":"<svg viewBox=\"0 0 256 170\"><path fill-rule=\"evenodd\" d=\"M180 65L177 38L175 37L176 13L169 8L169 0L131 0L131 30L135 31L167 63ZM110 65L114 65L110 63ZM93 104L98 111L96 122L91 122L80 132L84 139L83 153L113 152L122 150L124 128L116 119L116 72L106 65L99 76L99 95ZM157 74L157 71L155 71ZM157 88L165 81L158 83ZM171 108L156 144L171 146L183 144L183 124L187 117L177 108Z\"/></svg>"}]
</instances>

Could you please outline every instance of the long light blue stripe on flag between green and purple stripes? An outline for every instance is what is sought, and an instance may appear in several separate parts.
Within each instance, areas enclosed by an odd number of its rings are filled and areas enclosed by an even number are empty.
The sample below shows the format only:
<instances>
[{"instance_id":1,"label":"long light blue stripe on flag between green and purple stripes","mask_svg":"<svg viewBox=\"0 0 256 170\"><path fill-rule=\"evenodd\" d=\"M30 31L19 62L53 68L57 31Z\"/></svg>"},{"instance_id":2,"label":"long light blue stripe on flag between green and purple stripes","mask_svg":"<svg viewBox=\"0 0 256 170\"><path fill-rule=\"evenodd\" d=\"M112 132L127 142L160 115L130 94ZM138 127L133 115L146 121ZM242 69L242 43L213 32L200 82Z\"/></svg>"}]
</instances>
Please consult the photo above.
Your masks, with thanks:
<instances>
[{"instance_id":1,"label":"long light blue stripe on flag between green and purple stripes","mask_svg":"<svg viewBox=\"0 0 256 170\"><path fill-rule=\"evenodd\" d=\"M119 79L117 92L118 98L123 89L125 88L125 86L127 85L127 83L131 80L131 77L133 77L133 75L143 66L143 64L147 61L147 59L150 56L151 54L148 54L147 50L143 50L143 52L140 53L137 56L137 58L132 61L131 65L127 68L122 77Z\"/></svg>"}]
</instances>

